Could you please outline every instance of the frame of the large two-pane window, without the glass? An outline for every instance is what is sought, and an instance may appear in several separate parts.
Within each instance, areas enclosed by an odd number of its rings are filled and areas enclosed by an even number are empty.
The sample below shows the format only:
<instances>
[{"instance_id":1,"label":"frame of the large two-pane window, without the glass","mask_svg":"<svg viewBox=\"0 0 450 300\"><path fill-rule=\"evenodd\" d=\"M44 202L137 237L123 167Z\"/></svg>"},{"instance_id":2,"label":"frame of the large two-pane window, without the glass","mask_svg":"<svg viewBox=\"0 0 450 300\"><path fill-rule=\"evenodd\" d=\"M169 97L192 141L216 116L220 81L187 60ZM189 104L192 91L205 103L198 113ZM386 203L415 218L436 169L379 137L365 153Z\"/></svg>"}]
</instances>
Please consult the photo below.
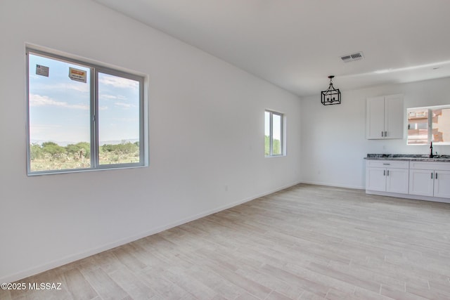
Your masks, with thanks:
<instances>
[{"instance_id":1,"label":"frame of the large two-pane window, without the glass","mask_svg":"<svg viewBox=\"0 0 450 300\"><path fill-rule=\"evenodd\" d=\"M79 65L81 67L86 67L90 70L89 78L89 115L90 115L90 160L91 167L81 168L81 169L54 169L45 171L32 171L31 170L31 136L30 136L30 54L35 56L41 56L44 58L49 58L51 60L59 60L63 63L72 63ZM127 169L136 167L146 167L148 165L146 159L146 117L144 115L144 107L146 107L146 102L144 101L144 84L146 83L146 78L141 74L132 73L129 71L118 70L114 67L108 67L105 65L99 65L97 63L91 63L86 60L79 60L77 58L71 58L70 55L60 55L53 53L52 51L41 51L37 48L26 47L26 67L27 67L27 78L26 78L26 100L27 100L27 124L26 124L26 134L27 134L27 175L43 175L43 174L65 174L80 171L98 171L105 169ZM130 163L119 163L119 164L101 164L99 159L99 140L98 140L98 73L112 75L115 77L122 77L125 79L131 79L139 82L139 162Z\"/></svg>"}]
</instances>

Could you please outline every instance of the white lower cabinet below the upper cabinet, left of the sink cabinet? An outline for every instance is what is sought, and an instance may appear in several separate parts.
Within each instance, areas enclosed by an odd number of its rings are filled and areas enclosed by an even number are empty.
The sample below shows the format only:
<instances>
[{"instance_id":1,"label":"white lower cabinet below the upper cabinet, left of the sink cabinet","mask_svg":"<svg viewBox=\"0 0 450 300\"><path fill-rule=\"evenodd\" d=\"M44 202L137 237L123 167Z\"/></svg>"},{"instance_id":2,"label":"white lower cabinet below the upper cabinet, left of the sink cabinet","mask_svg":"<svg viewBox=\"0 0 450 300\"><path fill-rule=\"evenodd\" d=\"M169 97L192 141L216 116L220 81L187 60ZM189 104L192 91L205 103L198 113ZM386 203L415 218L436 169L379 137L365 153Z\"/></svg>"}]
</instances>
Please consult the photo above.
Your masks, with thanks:
<instances>
[{"instance_id":1,"label":"white lower cabinet below the upper cabinet, left of the sink cabinet","mask_svg":"<svg viewBox=\"0 0 450 300\"><path fill-rule=\"evenodd\" d=\"M366 190L407 194L409 190L409 162L368 160Z\"/></svg>"}]
</instances>

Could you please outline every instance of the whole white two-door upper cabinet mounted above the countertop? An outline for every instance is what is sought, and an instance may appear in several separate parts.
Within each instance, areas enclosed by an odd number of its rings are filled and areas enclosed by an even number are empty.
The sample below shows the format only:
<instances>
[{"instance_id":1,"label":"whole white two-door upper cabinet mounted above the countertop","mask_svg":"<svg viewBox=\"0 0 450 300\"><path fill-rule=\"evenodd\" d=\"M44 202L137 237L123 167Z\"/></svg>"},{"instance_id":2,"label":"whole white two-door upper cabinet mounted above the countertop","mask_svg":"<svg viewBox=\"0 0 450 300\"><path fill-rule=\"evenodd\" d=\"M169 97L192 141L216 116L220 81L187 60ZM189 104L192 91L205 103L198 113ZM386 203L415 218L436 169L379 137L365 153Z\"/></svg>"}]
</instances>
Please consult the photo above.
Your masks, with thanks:
<instances>
[{"instance_id":1,"label":"whole white two-door upper cabinet mounted above the countertop","mask_svg":"<svg viewBox=\"0 0 450 300\"><path fill-rule=\"evenodd\" d=\"M368 139L403 138L403 95L367 98Z\"/></svg>"}]
</instances>

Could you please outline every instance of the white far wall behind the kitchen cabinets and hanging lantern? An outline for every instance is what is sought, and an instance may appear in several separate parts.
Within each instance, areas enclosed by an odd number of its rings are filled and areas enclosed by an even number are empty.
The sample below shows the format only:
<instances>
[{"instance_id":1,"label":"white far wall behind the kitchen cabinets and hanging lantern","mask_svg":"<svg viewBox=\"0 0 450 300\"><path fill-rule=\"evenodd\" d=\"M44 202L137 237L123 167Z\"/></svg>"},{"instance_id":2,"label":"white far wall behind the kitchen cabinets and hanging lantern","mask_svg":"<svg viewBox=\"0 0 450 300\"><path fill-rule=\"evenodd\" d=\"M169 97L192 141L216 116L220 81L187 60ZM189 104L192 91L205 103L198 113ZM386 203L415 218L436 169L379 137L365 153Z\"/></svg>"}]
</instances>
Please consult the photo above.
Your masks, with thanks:
<instances>
[{"instance_id":1,"label":"white far wall behind the kitchen cabinets and hanging lantern","mask_svg":"<svg viewBox=\"0 0 450 300\"><path fill-rule=\"evenodd\" d=\"M338 83L335 86L339 87ZM366 139L366 98L404 94L406 108L450 104L450 79L392 84L342 92L342 104L323 106L320 93L302 99L302 181L364 188L368 153L428 154L429 145L406 145L403 140ZM450 155L449 145L435 145Z\"/></svg>"}]
</instances>

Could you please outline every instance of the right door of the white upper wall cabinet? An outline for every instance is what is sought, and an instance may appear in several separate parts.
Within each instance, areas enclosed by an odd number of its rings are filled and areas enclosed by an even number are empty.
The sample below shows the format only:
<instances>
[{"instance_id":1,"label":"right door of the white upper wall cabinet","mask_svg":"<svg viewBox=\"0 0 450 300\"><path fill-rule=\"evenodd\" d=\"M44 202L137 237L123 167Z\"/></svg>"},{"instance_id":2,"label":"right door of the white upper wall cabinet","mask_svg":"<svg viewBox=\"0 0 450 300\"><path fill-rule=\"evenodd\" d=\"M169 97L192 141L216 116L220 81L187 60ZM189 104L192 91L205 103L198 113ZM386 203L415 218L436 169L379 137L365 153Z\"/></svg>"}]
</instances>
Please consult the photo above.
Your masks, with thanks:
<instances>
[{"instance_id":1,"label":"right door of the white upper wall cabinet","mask_svg":"<svg viewBox=\"0 0 450 300\"><path fill-rule=\"evenodd\" d=\"M385 96L385 138L403 138L404 133L403 96Z\"/></svg>"}]
</instances>

